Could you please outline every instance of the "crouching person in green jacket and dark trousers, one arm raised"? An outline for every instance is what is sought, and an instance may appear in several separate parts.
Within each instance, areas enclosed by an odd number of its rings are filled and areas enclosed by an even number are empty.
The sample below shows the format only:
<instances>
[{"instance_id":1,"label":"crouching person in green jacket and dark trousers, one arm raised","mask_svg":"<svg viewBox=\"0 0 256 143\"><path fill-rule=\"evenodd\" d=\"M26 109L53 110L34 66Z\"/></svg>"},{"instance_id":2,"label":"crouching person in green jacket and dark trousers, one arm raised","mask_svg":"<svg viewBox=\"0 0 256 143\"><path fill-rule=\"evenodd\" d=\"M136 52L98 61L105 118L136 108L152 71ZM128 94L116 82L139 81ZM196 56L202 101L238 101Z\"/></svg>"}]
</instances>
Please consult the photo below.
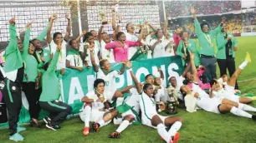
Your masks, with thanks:
<instances>
[{"instance_id":1,"label":"crouching person in green jacket and dark trousers, one arm raised","mask_svg":"<svg viewBox=\"0 0 256 143\"><path fill-rule=\"evenodd\" d=\"M44 66L44 72L42 83L43 91L39 99L39 105L45 111L49 111L49 117L44 118L46 127L56 131L60 129L60 122L64 121L66 117L71 114L71 106L63 103L59 100L60 86L59 79L56 76L55 69L59 60L59 53L61 51L61 42L58 43L57 51L54 53L53 60L46 63ZM64 69L61 70L61 75L64 74ZM60 77L59 76L59 77Z\"/></svg>"}]
</instances>

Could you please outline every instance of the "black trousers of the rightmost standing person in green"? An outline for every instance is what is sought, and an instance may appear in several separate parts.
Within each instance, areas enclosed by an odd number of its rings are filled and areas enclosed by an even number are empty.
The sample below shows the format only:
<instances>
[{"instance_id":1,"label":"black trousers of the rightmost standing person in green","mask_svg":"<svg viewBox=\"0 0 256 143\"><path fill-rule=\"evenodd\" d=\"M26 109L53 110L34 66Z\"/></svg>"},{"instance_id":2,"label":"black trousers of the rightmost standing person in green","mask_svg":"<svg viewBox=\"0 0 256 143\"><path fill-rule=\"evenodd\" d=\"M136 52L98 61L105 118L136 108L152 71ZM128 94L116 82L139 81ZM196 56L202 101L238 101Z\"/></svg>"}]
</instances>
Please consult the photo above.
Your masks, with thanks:
<instances>
[{"instance_id":1,"label":"black trousers of the rightmost standing person in green","mask_svg":"<svg viewBox=\"0 0 256 143\"><path fill-rule=\"evenodd\" d=\"M236 64L233 57L228 57L227 59L217 59L217 61L220 76L227 75L227 69L230 77L236 71ZM235 89L238 89L238 82L236 82Z\"/></svg>"}]
</instances>

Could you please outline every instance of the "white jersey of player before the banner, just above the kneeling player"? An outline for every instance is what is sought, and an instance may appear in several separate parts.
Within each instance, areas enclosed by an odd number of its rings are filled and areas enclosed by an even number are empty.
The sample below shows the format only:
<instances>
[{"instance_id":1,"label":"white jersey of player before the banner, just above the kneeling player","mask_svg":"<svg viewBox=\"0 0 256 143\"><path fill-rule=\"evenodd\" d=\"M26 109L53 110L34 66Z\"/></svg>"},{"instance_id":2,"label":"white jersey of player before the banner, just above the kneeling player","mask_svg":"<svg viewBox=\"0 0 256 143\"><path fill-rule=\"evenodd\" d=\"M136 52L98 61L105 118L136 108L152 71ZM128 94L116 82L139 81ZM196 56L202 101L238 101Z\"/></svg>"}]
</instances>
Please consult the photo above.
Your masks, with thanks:
<instances>
[{"instance_id":1,"label":"white jersey of player before the banner, just above the kneeling player","mask_svg":"<svg viewBox=\"0 0 256 143\"><path fill-rule=\"evenodd\" d=\"M120 72L118 71L113 71L110 72L109 74L105 75L104 72L99 68L99 72L97 72L97 79L103 79L105 81L105 90L106 91L115 91L115 77L119 76Z\"/></svg>"}]
</instances>

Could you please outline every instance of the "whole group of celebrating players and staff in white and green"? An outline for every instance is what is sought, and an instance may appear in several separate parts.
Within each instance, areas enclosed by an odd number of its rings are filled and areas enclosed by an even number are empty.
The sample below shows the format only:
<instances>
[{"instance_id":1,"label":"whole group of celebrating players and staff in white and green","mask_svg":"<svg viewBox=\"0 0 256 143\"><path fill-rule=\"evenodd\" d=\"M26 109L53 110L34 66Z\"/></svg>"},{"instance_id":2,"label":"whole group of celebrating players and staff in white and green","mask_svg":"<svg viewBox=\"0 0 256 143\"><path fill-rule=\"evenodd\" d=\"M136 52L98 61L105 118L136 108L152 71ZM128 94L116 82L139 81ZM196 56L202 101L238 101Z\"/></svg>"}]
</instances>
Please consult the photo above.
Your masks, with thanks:
<instances>
[{"instance_id":1,"label":"whole group of celebrating players and staff in white and green","mask_svg":"<svg viewBox=\"0 0 256 143\"><path fill-rule=\"evenodd\" d=\"M246 112L256 111L253 106L246 105L254 98L236 95L238 75L248 62L251 62L249 54L247 53L245 61L229 79L228 76L222 75L217 80L214 38L217 36L219 37L217 39L222 42L217 41L218 52L224 52L225 56L231 54L228 57L233 57L237 42L230 33L225 31L225 18L219 27L211 31L206 22L200 25L193 7L191 12L200 52L195 42L189 39L189 33L182 28L177 29L173 45L170 35L166 32L167 22L163 31L157 29L151 33L146 28L150 24L143 24L139 38L136 37L135 27L131 23L126 26L127 33L120 32L120 27L115 24L115 12L112 19L115 32L112 38L108 33L102 32L104 26L100 27L98 36L95 31L83 32L77 39L69 41L71 47L69 52L66 52L71 32L69 17L67 17L69 24L64 37L60 32L55 32L54 36L51 36L51 28L54 19L57 18L52 16L44 32L32 41L29 41L31 23L28 23L22 40L17 37L15 17L12 18L9 21L10 42L4 54L6 62L3 69L1 68L4 78L0 88L8 108L9 139L13 141L24 139L19 132L26 129L17 124L22 106L22 91L28 99L31 125L40 126L38 114L40 109L44 109L49 112L49 116L44 118L46 127L54 131L59 130L61 121L72 113L71 106L59 101L59 79L65 73L64 68L73 68L82 72L92 67L96 72L94 90L86 93L81 99L84 106L79 113L80 119L84 121L84 136L88 136L90 131L99 131L100 127L114 120L120 126L110 133L110 138L120 138L120 133L131 123L141 122L145 126L156 128L162 140L168 143L177 142L180 138L177 131L182 126L182 118L161 116L156 110L159 102L166 103L170 98L165 90L163 72L159 68L157 76L146 75L145 82L141 83L132 72L132 63L128 62L133 55L139 54L138 51L142 47L146 51L144 53L146 59L172 54L182 57L184 72L178 77L169 75L167 81L178 101L185 102L187 111L196 111L199 107L218 114L231 112L236 116L248 117L256 121L256 116ZM43 48L41 44L45 36L47 36L49 50ZM81 37L84 37L84 47L79 49ZM126 37L129 39L127 40ZM139 50L138 47L140 47ZM122 64L120 71L112 69L113 62ZM56 68L59 72L56 72ZM116 89L115 77L123 74L125 68L130 71L134 85ZM128 96L125 96L127 94Z\"/></svg>"}]
</instances>

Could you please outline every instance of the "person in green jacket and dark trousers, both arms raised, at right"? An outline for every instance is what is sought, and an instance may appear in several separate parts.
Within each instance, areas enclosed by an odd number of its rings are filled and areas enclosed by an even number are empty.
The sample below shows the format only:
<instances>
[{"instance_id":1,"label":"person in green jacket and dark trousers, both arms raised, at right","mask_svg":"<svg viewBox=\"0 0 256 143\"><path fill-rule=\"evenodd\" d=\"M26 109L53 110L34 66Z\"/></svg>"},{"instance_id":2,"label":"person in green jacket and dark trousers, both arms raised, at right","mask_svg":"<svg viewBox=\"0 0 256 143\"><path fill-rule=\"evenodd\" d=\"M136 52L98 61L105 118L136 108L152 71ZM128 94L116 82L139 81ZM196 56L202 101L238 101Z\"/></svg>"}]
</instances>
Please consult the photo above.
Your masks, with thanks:
<instances>
[{"instance_id":1,"label":"person in green jacket and dark trousers, both arms raised, at right","mask_svg":"<svg viewBox=\"0 0 256 143\"><path fill-rule=\"evenodd\" d=\"M201 48L201 64L206 67L206 71L203 73L202 82L209 83L212 79L217 78L216 76L216 57L214 52L213 39L221 32L223 27L223 22L225 22L225 17L222 18L222 22L219 27L214 30L209 30L209 25L206 22L201 24L197 21L196 9L191 7L191 12L195 22L197 38Z\"/></svg>"}]
</instances>

